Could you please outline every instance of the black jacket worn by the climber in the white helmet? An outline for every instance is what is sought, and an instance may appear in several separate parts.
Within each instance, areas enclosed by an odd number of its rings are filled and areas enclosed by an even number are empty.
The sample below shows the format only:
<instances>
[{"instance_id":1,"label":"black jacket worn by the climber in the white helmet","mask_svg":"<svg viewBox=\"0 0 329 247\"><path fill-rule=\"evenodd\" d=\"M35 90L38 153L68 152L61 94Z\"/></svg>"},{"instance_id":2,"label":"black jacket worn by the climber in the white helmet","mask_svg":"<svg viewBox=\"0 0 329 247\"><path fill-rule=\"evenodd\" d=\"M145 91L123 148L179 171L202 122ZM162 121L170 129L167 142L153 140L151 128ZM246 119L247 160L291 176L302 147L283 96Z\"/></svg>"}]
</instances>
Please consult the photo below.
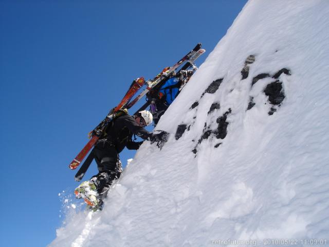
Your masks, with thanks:
<instances>
[{"instance_id":1,"label":"black jacket worn by the climber in the white helmet","mask_svg":"<svg viewBox=\"0 0 329 247\"><path fill-rule=\"evenodd\" d=\"M127 149L138 149L142 142L133 142L133 134L142 139L150 139L151 133L140 127L135 119L130 115L122 115L114 119L106 129L106 135L102 139L113 144L120 153L124 147Z\"/></svg>"}]
</instances>

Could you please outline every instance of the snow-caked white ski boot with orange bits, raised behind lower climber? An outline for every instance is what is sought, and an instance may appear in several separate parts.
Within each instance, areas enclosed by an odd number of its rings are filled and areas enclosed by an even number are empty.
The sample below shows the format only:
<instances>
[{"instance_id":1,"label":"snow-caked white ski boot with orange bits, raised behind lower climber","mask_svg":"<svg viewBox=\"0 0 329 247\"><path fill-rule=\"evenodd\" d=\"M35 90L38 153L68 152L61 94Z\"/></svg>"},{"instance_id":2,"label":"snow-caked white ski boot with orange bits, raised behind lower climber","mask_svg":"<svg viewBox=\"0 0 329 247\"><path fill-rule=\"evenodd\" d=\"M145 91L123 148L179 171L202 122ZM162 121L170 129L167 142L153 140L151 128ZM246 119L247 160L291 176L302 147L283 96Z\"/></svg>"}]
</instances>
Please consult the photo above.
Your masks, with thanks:
<instances>
[{"instance_id":1,"label":"snow-caked white ski boot with orange bits, raised behind lower climber","mask_svg":"<svg viewBox=\"0 0 329 247\"><path fill-rule=\"evenodd\" d=\"M74 191L76 198L83 198L85 203L92 208L99 207L98 193L95 184L92 181L82 182ZM96 209L97 210L97 209Z\"/></svg>"}]
</instances>

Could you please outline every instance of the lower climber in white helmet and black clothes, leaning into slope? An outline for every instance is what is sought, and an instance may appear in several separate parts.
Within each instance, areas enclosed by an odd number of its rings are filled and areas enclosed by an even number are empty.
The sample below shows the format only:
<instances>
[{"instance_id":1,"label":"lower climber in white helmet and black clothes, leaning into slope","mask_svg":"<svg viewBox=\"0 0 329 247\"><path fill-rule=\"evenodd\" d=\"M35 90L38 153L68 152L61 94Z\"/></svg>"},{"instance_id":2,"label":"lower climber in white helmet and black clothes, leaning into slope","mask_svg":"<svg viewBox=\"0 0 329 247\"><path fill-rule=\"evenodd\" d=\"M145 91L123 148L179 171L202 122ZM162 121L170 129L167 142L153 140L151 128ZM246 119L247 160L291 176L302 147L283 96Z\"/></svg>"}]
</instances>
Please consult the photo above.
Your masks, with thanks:
<instances>
[{"instance_id":1,"label":"lower climber in white helmet and black clothes, leaning into slope","mask_svg":"<svg viewBox=\"0 0 329 247\"><path fill-rule=\"evenodd\" d=\"M109 186L122 172L119 153L124 147L137 150L143 143L133 142L134 134L144 140L150 140L151 143L167 141L167 132L159 131L155 134L144 129L151 124L152 119L149 111L140 111L135 116L126 112L113 120L92 150L99 172L76 188L77 198L83 197L88 205L101 209L102 199L106 197Z\"/></svg>"}]
</instances>

